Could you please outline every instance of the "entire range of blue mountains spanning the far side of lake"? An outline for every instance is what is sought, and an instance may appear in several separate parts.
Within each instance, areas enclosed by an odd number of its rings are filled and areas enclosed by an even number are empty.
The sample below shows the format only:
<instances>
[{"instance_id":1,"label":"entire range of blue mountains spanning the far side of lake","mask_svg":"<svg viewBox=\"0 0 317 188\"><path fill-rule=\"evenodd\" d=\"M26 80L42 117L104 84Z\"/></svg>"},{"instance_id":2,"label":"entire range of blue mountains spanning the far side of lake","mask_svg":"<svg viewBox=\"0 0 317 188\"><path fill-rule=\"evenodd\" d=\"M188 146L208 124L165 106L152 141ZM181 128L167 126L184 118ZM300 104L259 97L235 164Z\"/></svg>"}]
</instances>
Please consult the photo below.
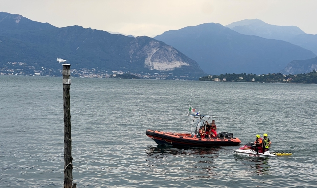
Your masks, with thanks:
<instances>
[{"instance_id":1,"label":"entire range of blue mountains spanning the far side of lake","mask_svg":"<svg viewBox=\"0 0 317 188\"><path fill-rule=\"evenodd\" d=\"M315 67L309 63L315 62L316 36L296 26L255 19L134 37L81 26L58 28L0 12L0 63L57 70L56 57L62 57L72 69L168 73L187 79L223 73L304 73ZM306 68L300 68L304 64Z\"/></svg>"}]
</instances>

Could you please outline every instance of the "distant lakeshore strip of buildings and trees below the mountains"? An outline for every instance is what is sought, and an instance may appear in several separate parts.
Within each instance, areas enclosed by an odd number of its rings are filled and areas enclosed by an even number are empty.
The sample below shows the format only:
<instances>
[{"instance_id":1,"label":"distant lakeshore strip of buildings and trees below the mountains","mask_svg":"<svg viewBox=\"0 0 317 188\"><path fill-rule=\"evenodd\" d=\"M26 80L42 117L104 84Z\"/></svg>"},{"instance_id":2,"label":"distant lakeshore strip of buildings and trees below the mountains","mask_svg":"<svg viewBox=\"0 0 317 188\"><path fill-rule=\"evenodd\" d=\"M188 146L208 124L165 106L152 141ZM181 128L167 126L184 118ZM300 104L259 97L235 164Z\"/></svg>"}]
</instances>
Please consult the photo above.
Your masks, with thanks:
<instances>
[{"instance_id":1,"label":"distant lakeshore strip of buildings and trees below the mountains","mask_svg":"<svg viewBox=\"0 0 317 188\"><path fill-rule=\"evenodd\" d=\"M61 67L62 68L62 67ZM0 66L0 75L24 75L24 76L62 76L62 69L53 69L35 66L29 66L22 62L7 62ZM168 79L168 80L189 80L188 76L173 76L172 73L162 72L155 74L133 74L122 71L100 71L96 69L71 69L71 76L83 78L121 78L121 79ZM214 82L260 82L260 83L301 83L317 84L317 72L314 70L310 73L285 75L282 73L268 74L220 74L207 75L199 78L199 81Z\"/></svg>"}]
</instances>

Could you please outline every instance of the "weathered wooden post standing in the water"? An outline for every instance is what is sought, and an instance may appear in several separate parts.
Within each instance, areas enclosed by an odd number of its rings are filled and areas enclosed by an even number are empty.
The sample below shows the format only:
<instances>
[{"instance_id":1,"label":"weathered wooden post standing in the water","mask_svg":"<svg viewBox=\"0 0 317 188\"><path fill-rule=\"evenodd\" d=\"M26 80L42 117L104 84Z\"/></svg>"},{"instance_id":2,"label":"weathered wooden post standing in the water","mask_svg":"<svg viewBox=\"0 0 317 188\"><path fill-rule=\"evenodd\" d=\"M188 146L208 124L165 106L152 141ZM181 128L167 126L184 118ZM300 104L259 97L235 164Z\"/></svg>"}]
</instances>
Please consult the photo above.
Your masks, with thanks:
<instances>
[{"instance_id":1,"label":"weathered wooden post standing in the water","mask_svg":"<svg viewBox=\"0 0 317 188\"><path fill-rule=\"evenodd\" d=\"M71 156L71 124L70 124L70 64L63 65L63 97L64 97L64 188L76 188L73 184L73 157Z\"/></svg>"}]
</instances>

